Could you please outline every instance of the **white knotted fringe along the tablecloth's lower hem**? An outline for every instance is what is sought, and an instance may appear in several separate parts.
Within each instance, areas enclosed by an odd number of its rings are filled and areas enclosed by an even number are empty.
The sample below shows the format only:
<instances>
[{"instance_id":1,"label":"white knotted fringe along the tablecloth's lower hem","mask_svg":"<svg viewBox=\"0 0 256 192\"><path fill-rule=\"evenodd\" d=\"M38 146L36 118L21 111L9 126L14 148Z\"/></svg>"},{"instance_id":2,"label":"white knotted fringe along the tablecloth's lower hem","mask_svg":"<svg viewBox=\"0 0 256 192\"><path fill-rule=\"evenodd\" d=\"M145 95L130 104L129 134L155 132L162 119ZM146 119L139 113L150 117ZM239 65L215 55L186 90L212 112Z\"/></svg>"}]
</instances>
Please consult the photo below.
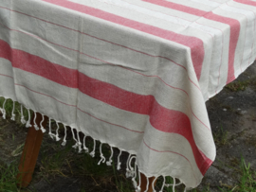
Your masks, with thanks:
<instances>
[{"instance_id":1,"label":"white knotted fringe along the tablecloth's lower hem","mask_svg":"<svg viewBox=\"0 0 256 192\"><path fill-rule=\"evenodd\" d=\"M11 98L6 98L5 96L2 96L2 97L5 98L5 101L4 101L4 103L3 103L2 108L0 107L0 112L2 113L2 117L3 117L4 119L6 119L5 104L6 104L7 99L11 99ZM11 100L12 100L12 99L11 99ZM12 100L12 101L13 101L13 108L12 108L11 118L10 118L10 119L14 121L14 120L15 120L14 110L15 110L15 102L16 102L16 101L14 101L14 100ZM31 115L30 115L30 111L29 111L29 110L31 110L31 109L28 109L27 107L26 107L26 109L27 109L27 112L28 112L28 119L27 119L27 120L26 120L25 117L24 117L24 114L23 114L23 106L21 105L21 123L22 123L22 124L25 124L26 127L29 128L29 127L31 127L31 124L30 124ZM35 120L36 120L36 113L38 113L38 112L35 111L35 110L32 110L32 111L35 113L35 116L34 116L34 119L33 119L33 123L34 123L34 128L35 128L35 130L36 130L36 131L40 131L40 130L41 130L43 133L46 132L46 129L45 129L45 128L43 127L43 125L42 125L42 123L43 123L43 121L44 121L44 119L45 119L46 114L41 113L42 116L43 116L43 120L40 122L40 125L37 125ZM59 137L59 132L58 132L58 131L59 131L59 129L60 129L59 123L62 123L62 122L53 119L53 120L55 120L56 125L57 125L56 134L54 134L54 133L52 133L52 131L51 131L51 120L52 120L52 118L49 117L49 120L48 120L49 131L48 131L48 134L49 134L49 136L50 136L51 139L55 139L56 141L60 141L61 138ZM65 146L65 144L66 144L66 126L67 126L67 125L64 124L64 123L63 123L63 125L64 125L64 140L63 140L63 142L62 142L61 145L62 145L62 146ZM76 128L72 128L72 127L70 127L70 129L71 129L71 131L72 131L73 140L76 142L76 144L75 144L74 146L72 146L72 148L75 148L75 149L78 148L78 152L79 152L79 153L81 153L82 150L84 150L85 153L89 153L92 157L95 157L96 139L94 139L93 137L91 137L91 138L93 139L93 141L94 141L94 147L93 147L93 150L92 150L91 152L89 152L89 149L86 148L86 146L85 146L85 138L86 138L87 136L89 136L89 135L85 135L85 134L82 133L82 134L84 135L84 136L83 136L83 142L82 142L83 144L82 144L82 143L80 142L80 136L79 136L80 131L78 131ZM77 131L77 138L76 138L76 135L75 135L75 133L74 133L74 130ZM100 140L99 140L99 141L100 141ZM101 142L101 141L100 141L100 142ZM101 165L101 163L102 163L102 164L106 163L107 166L112 166L112 162L113 162L113 161L112 161L112 157L113 157L113 155L114 155L114 150L113 150L113 148L117 148L117 147L111 146L111 145L108 144L108 145L110 146L110 149L111 149L111 155L110 155L110 157L109 157L109 160L106 161L106 158L103 156L102 151L101 151L102 144L103 144L103 143L101 142L101 146L100 146L101 160L100 160L100 162L98 163L98 165ZM82 147L83 147L83 148L82 148ZM125 150L119 148L118 165L117 165L117 169L118 169L118 170L120 170L120 165L121 165L121 164L120 164L120 162L119 162L119 158L120 158L120 155L121 155L122 151L125 151ZM126 151L126 152L128 152L128 151ZM127 158L127 163L126 163L126 178L132 178L132 182L133 182L133 185L134 185L134 187L135 187L135 189L136 189L136 192L142 192L142 191L141 191L141 178L140 178L140 173L144 174L145 177L146 177L146 179L147 179L147 189L146 189L144 192L147 192L148 189L149 189L149 178L150 178L150 177L155 177L155 180L154 180L154 182L152 183L152 188L153 188L154 192L156 192L154 183L155 183L156 179L159 178L159 177L163 177L163 183L162 183L162 186L161 186L161 189L160 189L159 192L163 192L164 187L170 187L170 186L173 186L173 192L174 192L174 191L175 191L175 186L178 186L178 185L180 185L180 184L184 184L182 181L180 181L180 183L175 183L175 178L172 177L171 175L147 176L144 172L142 172L142 171L139 170L139 167L137 166L137 156L136 156L135 154L130 153L130 152L128 152L128 153L129 153L129 156L128 156L128 158ZM132 166L132 162L133 162L134 159L135 159L135 161L134 161L134 166ZM173 183L173 184L166 183L165 177L167 177L167 176L170 176L170 177L173 178L173 180L174 180L174 183ZM137 183L137 182L138 182L138 183ZM187 190L188 190L188 189L187 189L187 187L186 187L186 185L185 185L185 190L184 190L184 192L186 192Z\"/></svg>"}]
</instances>

